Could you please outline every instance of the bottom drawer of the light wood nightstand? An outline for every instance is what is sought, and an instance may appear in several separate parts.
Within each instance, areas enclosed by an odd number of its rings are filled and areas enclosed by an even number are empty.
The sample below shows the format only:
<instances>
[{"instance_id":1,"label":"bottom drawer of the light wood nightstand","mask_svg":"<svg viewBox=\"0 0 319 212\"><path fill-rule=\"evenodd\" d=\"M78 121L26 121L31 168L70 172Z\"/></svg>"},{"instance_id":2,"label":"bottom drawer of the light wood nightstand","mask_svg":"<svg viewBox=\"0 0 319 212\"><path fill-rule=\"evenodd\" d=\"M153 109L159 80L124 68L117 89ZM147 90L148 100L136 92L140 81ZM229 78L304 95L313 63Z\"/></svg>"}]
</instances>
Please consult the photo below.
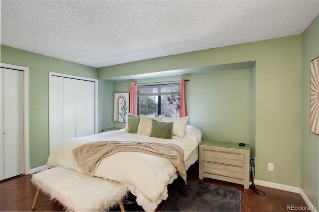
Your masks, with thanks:
<instances>
[{"instance_id":1,"label":"bottom drawer of the light wood nightstand","mask_svg":"<svg viewBox=\"0 0 319 212\"><path fill-rule=\"evenodd\" d=\"M203 172L214 174L214 175L236 178L240 180L244 179L243 167L203 162Z\"/></svg>"}]
</instances>

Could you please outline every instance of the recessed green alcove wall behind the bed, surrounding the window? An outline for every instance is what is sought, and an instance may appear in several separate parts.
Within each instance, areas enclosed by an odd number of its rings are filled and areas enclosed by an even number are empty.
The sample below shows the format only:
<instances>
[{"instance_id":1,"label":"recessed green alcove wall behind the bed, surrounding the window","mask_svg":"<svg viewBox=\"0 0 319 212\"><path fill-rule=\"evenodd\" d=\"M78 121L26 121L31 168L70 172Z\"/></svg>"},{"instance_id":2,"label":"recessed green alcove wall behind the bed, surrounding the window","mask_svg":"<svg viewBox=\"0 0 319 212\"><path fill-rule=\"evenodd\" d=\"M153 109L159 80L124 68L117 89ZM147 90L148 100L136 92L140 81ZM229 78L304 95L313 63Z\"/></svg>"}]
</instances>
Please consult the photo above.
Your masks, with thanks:
<instances>
[{"instance_id":1,"label":"recessed green alcove wall behind the bed, surrounding the window","mask_svg":"<svg viewBox=\"0 0 319 212\"><path fill-rule=\"evenodd\" d=\"M185 94L189 124L202 130L202 139L245 142L254 147L252 72L252 69L230 70L134 82L188 79ZM130 92L130 82L114 82L114 92ZM124 128L125 124L114 122L114 127Z\"/></svg>"}]
</instances>

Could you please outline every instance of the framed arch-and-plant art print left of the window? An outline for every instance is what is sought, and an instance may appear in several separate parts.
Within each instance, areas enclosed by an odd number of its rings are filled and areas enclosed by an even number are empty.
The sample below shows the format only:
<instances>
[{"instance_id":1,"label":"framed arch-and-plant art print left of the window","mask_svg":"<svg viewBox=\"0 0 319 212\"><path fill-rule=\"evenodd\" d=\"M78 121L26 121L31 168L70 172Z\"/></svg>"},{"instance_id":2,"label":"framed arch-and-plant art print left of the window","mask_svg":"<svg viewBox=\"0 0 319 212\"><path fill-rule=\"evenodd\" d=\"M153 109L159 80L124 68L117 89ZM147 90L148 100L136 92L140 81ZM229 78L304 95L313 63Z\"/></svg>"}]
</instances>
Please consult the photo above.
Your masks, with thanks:
<instances>
[{"instance_id":1,"label":"framed arch-and-plant art print left of the window","mask_svg":"<svg viewBox=\"0 0 319 212\"><path fill-rule=\"evenodd\" d=\"M114 121L126 122L129 114L130 93L114 93Z\"/></svg>"}]
</instances>

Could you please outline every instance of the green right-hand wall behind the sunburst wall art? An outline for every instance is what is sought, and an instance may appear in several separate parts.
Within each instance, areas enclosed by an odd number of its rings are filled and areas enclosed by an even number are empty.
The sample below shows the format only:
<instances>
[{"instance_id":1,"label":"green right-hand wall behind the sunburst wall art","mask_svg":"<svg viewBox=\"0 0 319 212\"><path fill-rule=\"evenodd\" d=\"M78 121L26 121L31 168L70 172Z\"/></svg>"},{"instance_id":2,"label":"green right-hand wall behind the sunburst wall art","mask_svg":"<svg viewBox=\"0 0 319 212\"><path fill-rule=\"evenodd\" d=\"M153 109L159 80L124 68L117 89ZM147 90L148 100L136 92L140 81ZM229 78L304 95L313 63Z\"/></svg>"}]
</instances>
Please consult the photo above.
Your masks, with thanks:
<instances>
[{"instance_id":1,"label":"green right-hand wall behind the sunburst wall art","mask_svg":"<svg viewBox=\"0 0 319 212\"><path fill-rule=\"evenodd\" d=\"M319 16L303 34L303 137L301 188L319 208L319 136L310 132L310 61L319 56Z\"/></svg>"}]
</instances>

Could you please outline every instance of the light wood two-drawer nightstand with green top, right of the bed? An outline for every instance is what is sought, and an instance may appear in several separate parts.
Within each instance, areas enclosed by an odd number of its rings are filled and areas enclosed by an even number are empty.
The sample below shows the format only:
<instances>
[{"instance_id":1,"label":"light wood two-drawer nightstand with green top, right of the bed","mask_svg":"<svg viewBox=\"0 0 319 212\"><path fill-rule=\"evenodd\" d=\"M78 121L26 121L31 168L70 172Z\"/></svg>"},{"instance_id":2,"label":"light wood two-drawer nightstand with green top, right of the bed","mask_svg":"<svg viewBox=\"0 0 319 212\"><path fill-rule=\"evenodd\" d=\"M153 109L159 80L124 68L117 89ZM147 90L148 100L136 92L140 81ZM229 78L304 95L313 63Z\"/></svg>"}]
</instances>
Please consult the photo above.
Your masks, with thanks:
<instances>
[{"instance_id":1,"label":"light wood two-drawer nightstand with green top, right of the bed","mask_svg":"<svg viewBox=\"0 0 319 212\"><path fill-rule=\"evenodd\" d=\"M199 144L199 179L207 177L249 189L249 160L248 145L204 140Z\"/></svg>"}]
</instances>

